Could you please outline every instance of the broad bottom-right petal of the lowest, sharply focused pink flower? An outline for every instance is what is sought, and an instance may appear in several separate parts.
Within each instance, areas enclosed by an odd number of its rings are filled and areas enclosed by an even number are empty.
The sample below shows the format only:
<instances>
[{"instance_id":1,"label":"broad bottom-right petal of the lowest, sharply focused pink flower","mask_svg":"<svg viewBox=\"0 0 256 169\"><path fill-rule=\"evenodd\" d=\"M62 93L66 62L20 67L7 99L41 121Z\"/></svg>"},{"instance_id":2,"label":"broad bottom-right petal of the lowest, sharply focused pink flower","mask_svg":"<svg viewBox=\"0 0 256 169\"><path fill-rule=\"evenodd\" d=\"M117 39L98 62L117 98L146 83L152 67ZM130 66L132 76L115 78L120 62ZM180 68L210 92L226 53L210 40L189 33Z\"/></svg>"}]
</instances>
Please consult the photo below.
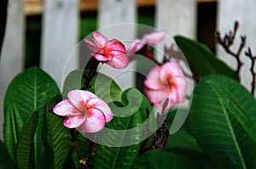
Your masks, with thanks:
<instances>
[{"instance_id":1,"label":"broad bottom-right petal of the lowest, sharply focused pink flower","mask_svg":"<svg viewBox=\"0 0 256 169\"><path fill-rule=\"evenodd\" d=\"M99 132L106 123L105 115L101 110L90 109L89 116L82 125L78 127L81 132Z\"/></svg>"}]
</instances>

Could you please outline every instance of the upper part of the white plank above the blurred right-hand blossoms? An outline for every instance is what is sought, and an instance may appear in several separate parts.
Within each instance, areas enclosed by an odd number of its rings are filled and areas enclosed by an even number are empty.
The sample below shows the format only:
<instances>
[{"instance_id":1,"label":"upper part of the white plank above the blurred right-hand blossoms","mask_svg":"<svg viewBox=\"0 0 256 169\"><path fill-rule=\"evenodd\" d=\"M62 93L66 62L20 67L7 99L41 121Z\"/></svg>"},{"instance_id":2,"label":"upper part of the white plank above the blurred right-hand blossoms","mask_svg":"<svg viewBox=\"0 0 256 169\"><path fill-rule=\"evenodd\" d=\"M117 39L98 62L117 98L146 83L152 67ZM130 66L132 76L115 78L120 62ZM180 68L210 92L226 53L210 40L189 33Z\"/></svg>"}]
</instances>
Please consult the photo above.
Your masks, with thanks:
<instances>
[{"instance_id":1,"label":"upper part of the white plank above the blurred right-hand blossoms","mask_svg":"<svg viewBox=\"0 0 256 169\"><path fill-rule=\"evenodd\" d=\"M182 34L195 38L196 33L196 2L194 0L157 0L157 28L167 35Z\"/></svg>"}]
</instances>

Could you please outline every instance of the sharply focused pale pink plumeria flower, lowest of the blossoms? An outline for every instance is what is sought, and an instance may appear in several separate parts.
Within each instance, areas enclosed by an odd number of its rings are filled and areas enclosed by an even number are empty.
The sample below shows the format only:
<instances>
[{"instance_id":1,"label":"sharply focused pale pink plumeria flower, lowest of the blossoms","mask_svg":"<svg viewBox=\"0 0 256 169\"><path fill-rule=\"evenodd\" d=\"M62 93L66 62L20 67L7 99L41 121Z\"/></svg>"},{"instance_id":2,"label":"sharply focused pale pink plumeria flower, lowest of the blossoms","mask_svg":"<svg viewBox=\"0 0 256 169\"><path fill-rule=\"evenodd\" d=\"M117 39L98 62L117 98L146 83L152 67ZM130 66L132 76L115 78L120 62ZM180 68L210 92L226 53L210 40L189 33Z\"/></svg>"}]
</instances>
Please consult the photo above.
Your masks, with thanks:
<instances>
[{"instance_id":1,"label":"sharply focused pale pink plumeria flower, lowest of the blossoms","mask_svg":"<svg viewBox=\"0 0 256 169\"><path fill-rule=\"evenodd\" d=\"M71 90L67 98L53 109L56 115L65 117L65 127L77 128L81 132L99 132L113 118L108 104L94 93Z\"/></svg>"}]
</instances>

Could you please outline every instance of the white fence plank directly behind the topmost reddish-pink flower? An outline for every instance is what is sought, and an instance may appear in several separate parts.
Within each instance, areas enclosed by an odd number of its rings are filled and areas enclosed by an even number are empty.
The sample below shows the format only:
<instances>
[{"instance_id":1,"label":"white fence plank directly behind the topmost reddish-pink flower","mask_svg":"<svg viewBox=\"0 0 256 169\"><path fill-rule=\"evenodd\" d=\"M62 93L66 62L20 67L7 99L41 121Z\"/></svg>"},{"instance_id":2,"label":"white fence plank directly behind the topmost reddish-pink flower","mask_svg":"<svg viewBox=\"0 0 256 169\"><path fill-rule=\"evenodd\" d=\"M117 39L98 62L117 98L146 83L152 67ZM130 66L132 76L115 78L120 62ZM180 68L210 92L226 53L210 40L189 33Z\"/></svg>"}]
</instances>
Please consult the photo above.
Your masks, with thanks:
<instances>
[{"instance_id":1,"label":"white fence plank directly behind the topmost reddish-pink flower","mask_svg":"<svg viewBox=\"0 0 256 169\"><path fill-rule=\"evenodd\" d=\"M136 25L122 24L135 23L136 14L135 0L100 0L98 7L99 31L108 38L116 38L122 42L131 42L135 39ZM135 67L135 62L122 70L113 69L106 65L102 66L101 71L108 76L112 76L121 88L125 89L135 85ZM123 73L119 74L120 71Z\"/></svg>"}]
</instances>

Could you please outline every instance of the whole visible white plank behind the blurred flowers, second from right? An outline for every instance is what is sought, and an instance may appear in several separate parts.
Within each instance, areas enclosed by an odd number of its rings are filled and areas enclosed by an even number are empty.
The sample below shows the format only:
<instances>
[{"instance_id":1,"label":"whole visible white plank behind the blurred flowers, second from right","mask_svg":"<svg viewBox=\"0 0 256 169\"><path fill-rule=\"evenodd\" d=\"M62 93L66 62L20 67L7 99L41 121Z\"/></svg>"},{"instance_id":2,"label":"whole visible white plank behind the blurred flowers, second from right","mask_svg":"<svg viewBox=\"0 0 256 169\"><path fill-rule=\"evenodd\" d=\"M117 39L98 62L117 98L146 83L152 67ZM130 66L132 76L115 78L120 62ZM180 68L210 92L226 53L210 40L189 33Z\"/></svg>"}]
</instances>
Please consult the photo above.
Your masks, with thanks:
<instances>
[{"instance_id":1,"label":"whole visible white plank behind the blurred flowers, second from right","mask_svg":"<svg viewBox=\"0 0 256 169\"><path fill-rule=\"evenodd\" d=\"M162 60L164 45L170 47L173 44L172 36L181 34L186 37L195 38L196 32L196 2L191 0L158 0L156 4L155 25L164 31L169 37L156 46L157 58ZM183 70L190 74L189 66L183 63ZM194 83L187 78L187 95L191 95ZM187 100L182 106L188 107Z\"/></svg>"}]
</instances>

